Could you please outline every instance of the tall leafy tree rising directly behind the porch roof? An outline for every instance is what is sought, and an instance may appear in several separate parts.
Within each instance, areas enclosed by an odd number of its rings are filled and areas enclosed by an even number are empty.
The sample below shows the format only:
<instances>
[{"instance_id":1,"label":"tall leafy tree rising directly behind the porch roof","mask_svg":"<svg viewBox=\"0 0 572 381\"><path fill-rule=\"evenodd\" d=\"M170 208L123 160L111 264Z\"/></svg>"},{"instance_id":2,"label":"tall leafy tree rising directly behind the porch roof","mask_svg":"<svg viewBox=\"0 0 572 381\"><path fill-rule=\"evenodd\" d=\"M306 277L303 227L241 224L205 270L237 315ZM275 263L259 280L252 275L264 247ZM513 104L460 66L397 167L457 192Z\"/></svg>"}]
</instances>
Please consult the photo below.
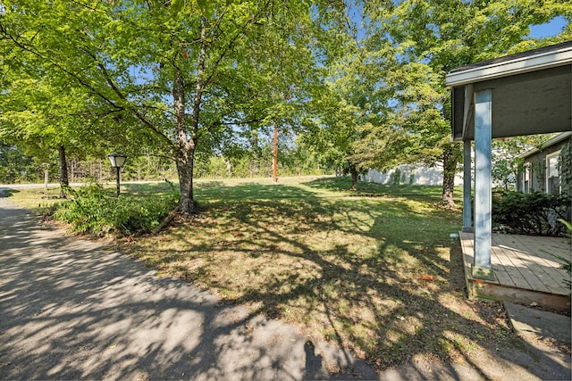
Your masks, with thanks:
<instances>
[{"instance_id":1,"label":"tall leafy tree rising directly behind the porch roof","mask_svg":"<svg viewBox=\"0 0 572 381\"><path fill-rule=\"evenodd\" d=\"M461 152L449 142L450 102L444 75L458 66L569 40L570 24L557 37L538 40L527 36L531 25L554 17L572 21L572 4L559 0L543 0L542 6L525 0L405 0L367 2L365 12L368 52L379 56L379 52L392 51L391 59L384 54L380 62L395 68L380 82L393 94L390 123L405 128L416 141L408 146L403 161L408 157L442 162L443 203L453 205L453 178ZM374 129L373 137L383 135L387 128Z\"/></svg>"}]
</instances>

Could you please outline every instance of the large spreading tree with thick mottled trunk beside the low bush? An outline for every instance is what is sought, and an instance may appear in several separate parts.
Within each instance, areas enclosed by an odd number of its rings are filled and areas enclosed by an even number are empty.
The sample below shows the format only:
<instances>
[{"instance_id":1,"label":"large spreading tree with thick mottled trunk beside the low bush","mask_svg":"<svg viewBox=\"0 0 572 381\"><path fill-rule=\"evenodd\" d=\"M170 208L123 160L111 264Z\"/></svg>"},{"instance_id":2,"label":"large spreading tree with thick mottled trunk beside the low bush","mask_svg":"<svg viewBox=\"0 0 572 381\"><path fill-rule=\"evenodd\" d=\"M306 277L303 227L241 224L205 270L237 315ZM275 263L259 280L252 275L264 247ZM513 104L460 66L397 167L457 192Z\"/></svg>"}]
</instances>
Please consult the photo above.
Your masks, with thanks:
<instances>
[{"instance_id":1,"label":"large spreading tree with thick mottled trunk beside the low bush","mask_svg":"<svg viewBox=\"0 0 572 381\"><path fill-rule=\"evenodd\" d=\"M196 211L193 167L202 144L208 150L231 142L240 126L264 120L269 104L276 110L287 104L284 87L270 94L265 88L265 78L275 77L281 63L262 54L265 45L271 44L270 52L298 52L298 67L290 57L280 78L304 88L292 76L315 65L319 46L312 37L327 29L324 20L310 17L320 7L301 0L29 1L4 7L4 46L41 62L52 86L63 90L71 81L81 87L99 118L121 124L133 144L148 143L172 157L183 213ZM272 103L252 102L255 90Z\"/></svg>"}]
</instances>

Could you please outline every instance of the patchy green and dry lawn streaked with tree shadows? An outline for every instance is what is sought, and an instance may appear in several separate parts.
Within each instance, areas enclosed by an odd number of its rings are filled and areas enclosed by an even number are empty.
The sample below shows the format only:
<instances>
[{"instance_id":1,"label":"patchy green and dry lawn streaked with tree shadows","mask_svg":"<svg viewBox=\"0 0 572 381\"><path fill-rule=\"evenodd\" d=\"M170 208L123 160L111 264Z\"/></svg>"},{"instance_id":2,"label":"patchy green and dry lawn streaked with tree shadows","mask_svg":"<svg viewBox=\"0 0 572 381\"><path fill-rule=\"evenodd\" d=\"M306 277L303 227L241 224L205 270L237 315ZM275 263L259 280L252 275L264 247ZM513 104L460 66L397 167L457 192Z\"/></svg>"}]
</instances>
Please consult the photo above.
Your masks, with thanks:
<instances>
[{"instance_id":1,"label":"patchy green and dry lawn streaked with tree shadows","mask_svg":"<svg viewBox=\"0 0 572 381\"><path fill-rule=\"evenodd\" d=\"M157 276L290 322L379 369L468 358L514 338L499 304L466 300L460 247L450 238L461 214L438 207L439 186L362 183L349 192L348 178L196 186L197 217L118 240L122 251ZM124 190L147 197L168 186Z\"/></svg>"}]
</instances>

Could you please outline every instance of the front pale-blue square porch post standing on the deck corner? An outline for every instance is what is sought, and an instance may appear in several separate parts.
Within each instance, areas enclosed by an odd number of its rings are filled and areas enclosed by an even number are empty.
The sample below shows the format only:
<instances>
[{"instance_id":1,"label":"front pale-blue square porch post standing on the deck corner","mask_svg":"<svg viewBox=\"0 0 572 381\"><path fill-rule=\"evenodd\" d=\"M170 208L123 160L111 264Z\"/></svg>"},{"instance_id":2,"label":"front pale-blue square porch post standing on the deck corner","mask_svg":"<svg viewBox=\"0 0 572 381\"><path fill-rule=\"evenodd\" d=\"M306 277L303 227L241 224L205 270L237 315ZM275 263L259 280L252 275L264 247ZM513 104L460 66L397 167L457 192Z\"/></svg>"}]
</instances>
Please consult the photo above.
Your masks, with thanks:
<instances>
[{"instance_id":1,"label":"front pale-blue square porch post standing on the deck corner","mask_svg":"<svg viewBox=\"0 0 572 381\"><path fill-rule=\"evenodd\" d=\"M494 279L492 234L492 90L475 93L475 262L473 277Z\"/></svg>"}]
</instances>

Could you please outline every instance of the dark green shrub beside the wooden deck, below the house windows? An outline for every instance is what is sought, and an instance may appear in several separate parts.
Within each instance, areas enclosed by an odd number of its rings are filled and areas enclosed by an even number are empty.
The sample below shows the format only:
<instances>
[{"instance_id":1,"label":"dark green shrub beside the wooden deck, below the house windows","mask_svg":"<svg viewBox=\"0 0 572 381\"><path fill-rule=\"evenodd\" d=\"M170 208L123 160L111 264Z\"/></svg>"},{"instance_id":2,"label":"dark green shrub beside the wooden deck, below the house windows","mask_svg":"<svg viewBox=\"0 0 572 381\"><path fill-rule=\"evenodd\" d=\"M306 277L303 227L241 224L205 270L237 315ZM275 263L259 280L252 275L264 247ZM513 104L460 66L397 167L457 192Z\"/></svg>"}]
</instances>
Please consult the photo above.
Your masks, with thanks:
<instances>
[{"instance_id":1,"label":"dark green shrub beside the wooden deck, below the house windows","mask_svg":"<svg viewBox=\"0 0 572 381\"><path fill-rule=\"evenodd\" d=\"M524 194L514 191L496 192L492 197L493 227L528 236L563 236L570 196L541 192Z\"/></svg>"}]
</instances>

